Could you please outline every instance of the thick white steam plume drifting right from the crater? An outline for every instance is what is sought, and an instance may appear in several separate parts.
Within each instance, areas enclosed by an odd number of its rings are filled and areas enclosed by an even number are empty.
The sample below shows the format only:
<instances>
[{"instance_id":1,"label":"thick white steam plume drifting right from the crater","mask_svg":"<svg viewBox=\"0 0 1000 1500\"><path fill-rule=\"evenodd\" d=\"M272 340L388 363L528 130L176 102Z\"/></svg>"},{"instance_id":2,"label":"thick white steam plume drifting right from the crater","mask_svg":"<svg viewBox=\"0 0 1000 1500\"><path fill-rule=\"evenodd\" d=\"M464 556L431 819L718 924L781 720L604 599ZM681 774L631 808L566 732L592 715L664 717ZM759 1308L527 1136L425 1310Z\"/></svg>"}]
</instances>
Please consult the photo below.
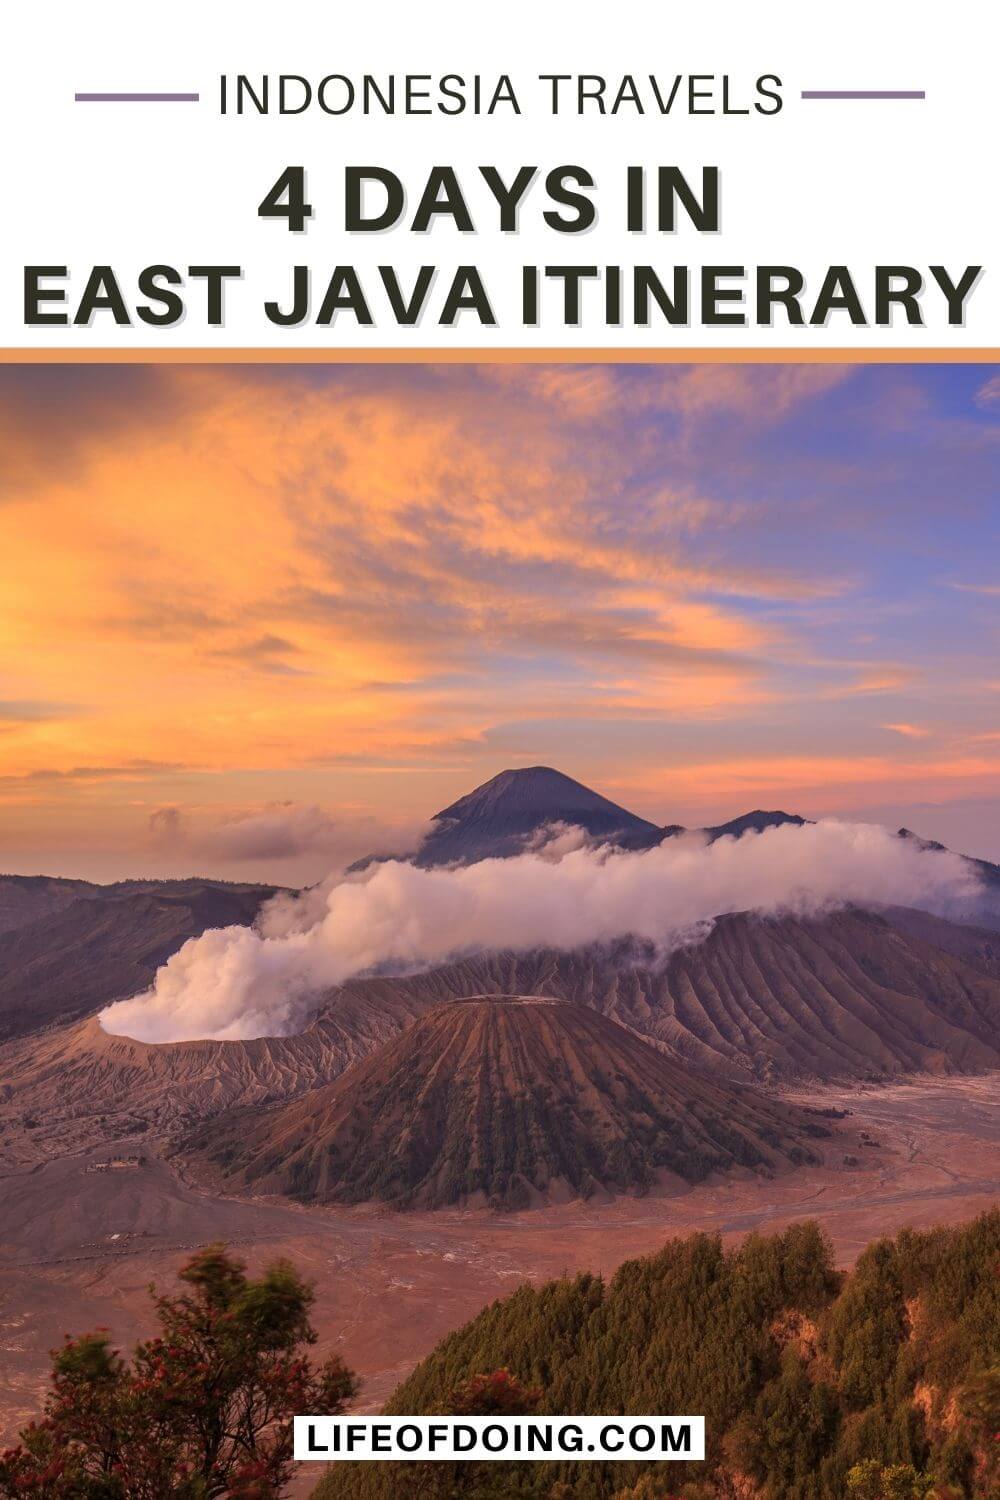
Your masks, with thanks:
<instances>
[{"instance_id":1,"label":"thick white steam plume drifting right from the crater","mask_svg":"<svg viewBox=\"0 0 1000 1500\"><path fill-rule=\"evenodd\" d=\"M712 844L688 836L634 854L576 843L562 828L550 844L511 860L430 870L387 861L330 878L270 903L258 930L190 939L145 994L108 1006L100 1022L142 1041L286 1035L324 990L376 969L412 972L489 950L571 950L628 934L667 957L723 912L900 904L955 916L981 891L961 856L871 824L786 825Z\"/></svg>"}]
</instances>

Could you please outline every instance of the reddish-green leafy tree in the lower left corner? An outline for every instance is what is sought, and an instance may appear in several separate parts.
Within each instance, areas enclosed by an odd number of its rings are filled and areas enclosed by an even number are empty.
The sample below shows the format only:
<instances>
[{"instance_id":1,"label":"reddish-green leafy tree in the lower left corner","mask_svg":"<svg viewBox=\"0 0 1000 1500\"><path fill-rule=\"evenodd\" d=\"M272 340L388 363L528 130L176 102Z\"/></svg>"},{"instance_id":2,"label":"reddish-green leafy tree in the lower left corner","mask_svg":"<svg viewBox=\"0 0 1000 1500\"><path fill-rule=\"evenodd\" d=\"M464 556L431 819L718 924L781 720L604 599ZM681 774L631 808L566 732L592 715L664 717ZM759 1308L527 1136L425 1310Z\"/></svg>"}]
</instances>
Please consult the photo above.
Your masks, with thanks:
<instances>
[{"instance_id":1,"label":"reddish-green leafy tree in the lower left corner","mask_svg":"<svg viewBox=\"0 0 1000 1500\"><path fill-rule=\"evenodd\" d=\"M225 1246L156 1294L160 1332L132 1360L106 1332L52 1353L45 1412L0 1452L0 1497L276 1500L292 1472L292 1416L331 1414L357 1394L337 1358L315 1368L313 1292L286 1262L250 1280Z\"/></svg>"}]
</instances>

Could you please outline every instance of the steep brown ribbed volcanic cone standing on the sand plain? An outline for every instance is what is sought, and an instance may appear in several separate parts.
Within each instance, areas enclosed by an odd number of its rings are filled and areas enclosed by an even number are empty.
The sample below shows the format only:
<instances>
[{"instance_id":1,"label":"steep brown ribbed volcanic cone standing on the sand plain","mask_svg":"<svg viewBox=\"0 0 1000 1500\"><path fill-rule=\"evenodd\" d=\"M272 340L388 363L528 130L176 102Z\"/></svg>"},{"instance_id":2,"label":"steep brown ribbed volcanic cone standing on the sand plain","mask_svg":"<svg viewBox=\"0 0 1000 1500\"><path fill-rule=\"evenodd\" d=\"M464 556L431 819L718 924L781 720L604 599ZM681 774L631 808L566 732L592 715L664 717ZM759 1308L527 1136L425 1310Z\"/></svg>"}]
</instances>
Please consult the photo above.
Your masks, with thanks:
<instances>
[{"instance_id":1,"label":"steep brown ribbed volcanic cone standing on the sand plain","mask_svg":"<svg viewBox=\"0 0 1000 1500\"><path fill-rule=\"evenodd\" d=\"M711 1083L595 1011L441 1005L336 1083L189 1142L226 1186L400 1208L526 1208L816 1160L804 1113Z\"/></svg>"}]
</instances>

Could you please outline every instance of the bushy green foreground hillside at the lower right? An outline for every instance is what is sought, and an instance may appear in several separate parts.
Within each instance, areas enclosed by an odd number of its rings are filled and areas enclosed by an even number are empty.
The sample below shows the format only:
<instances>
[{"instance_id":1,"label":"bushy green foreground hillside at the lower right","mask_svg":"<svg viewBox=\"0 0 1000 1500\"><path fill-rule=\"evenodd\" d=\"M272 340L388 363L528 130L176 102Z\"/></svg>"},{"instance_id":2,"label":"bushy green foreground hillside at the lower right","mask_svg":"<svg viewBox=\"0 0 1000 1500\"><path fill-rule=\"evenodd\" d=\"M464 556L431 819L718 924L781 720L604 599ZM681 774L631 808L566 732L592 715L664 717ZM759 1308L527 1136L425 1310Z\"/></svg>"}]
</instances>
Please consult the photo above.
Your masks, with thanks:
<instances>
[{"instance_id":1,"label":"bushy green foreground hillside at the lower right","mask_svg":"<svg viewBox=\"0 0 1000 1500\"><path fill-rule=\"evenodd\" d=\"M841 1276L816 1224L669 1240L597 1276L522 1286L450 1334L387 1402L390 1413L454 1410L468 1378L507 1366L541 1388L543 1413L703 1413L706 1462L669 1466L699 1500L924 1496L927 1485L853 1490L858 1464L910 1466L936 1494L996 1500L1000 1461L1000 1210L958 1228L871 1244ZM993 1374L990 1374L993 1371ZM610 1500L642 1464L490 1464L507 1500ZM331 1466L315 1500L390 1500L412 1467ZM475 1492L469 1466L463 1484ZM564 1490L552 1490L562 1484ZM687 1485L691 1485L688 1490ZM684 1488L682 1488L684 1486ZM465 1492L465 1491L463 1491Z\"/></svg>"}]
</instances>

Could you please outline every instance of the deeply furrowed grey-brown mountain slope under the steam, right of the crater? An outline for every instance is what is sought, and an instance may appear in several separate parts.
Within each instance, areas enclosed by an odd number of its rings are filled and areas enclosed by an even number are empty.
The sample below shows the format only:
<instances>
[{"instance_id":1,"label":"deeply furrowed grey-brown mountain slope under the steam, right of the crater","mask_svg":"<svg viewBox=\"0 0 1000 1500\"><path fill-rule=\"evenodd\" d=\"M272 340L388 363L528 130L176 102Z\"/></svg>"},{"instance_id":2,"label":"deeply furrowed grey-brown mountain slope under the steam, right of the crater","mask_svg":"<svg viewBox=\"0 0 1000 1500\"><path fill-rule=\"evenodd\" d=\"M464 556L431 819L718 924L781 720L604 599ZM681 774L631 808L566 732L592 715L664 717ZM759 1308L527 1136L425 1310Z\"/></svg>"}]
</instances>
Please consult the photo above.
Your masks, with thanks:
<instances>
[{"instance_id":1,"label":"deeply furrowed grey-brown mountain slope under the steam, right of the crater","mask_svg":"<svg viewBox=\"0 0 1000 1500\"><path fill-rule=\"evenodd\" d=\"M441 1000L523 993L591 1005L700 1070L747 1080L997 1068L1000 978L987 968L988 944L942 927L964 956L859 909L744 914L664 963L627 945L499 952L394 982Z\"/></svg>"}]
</instances>

